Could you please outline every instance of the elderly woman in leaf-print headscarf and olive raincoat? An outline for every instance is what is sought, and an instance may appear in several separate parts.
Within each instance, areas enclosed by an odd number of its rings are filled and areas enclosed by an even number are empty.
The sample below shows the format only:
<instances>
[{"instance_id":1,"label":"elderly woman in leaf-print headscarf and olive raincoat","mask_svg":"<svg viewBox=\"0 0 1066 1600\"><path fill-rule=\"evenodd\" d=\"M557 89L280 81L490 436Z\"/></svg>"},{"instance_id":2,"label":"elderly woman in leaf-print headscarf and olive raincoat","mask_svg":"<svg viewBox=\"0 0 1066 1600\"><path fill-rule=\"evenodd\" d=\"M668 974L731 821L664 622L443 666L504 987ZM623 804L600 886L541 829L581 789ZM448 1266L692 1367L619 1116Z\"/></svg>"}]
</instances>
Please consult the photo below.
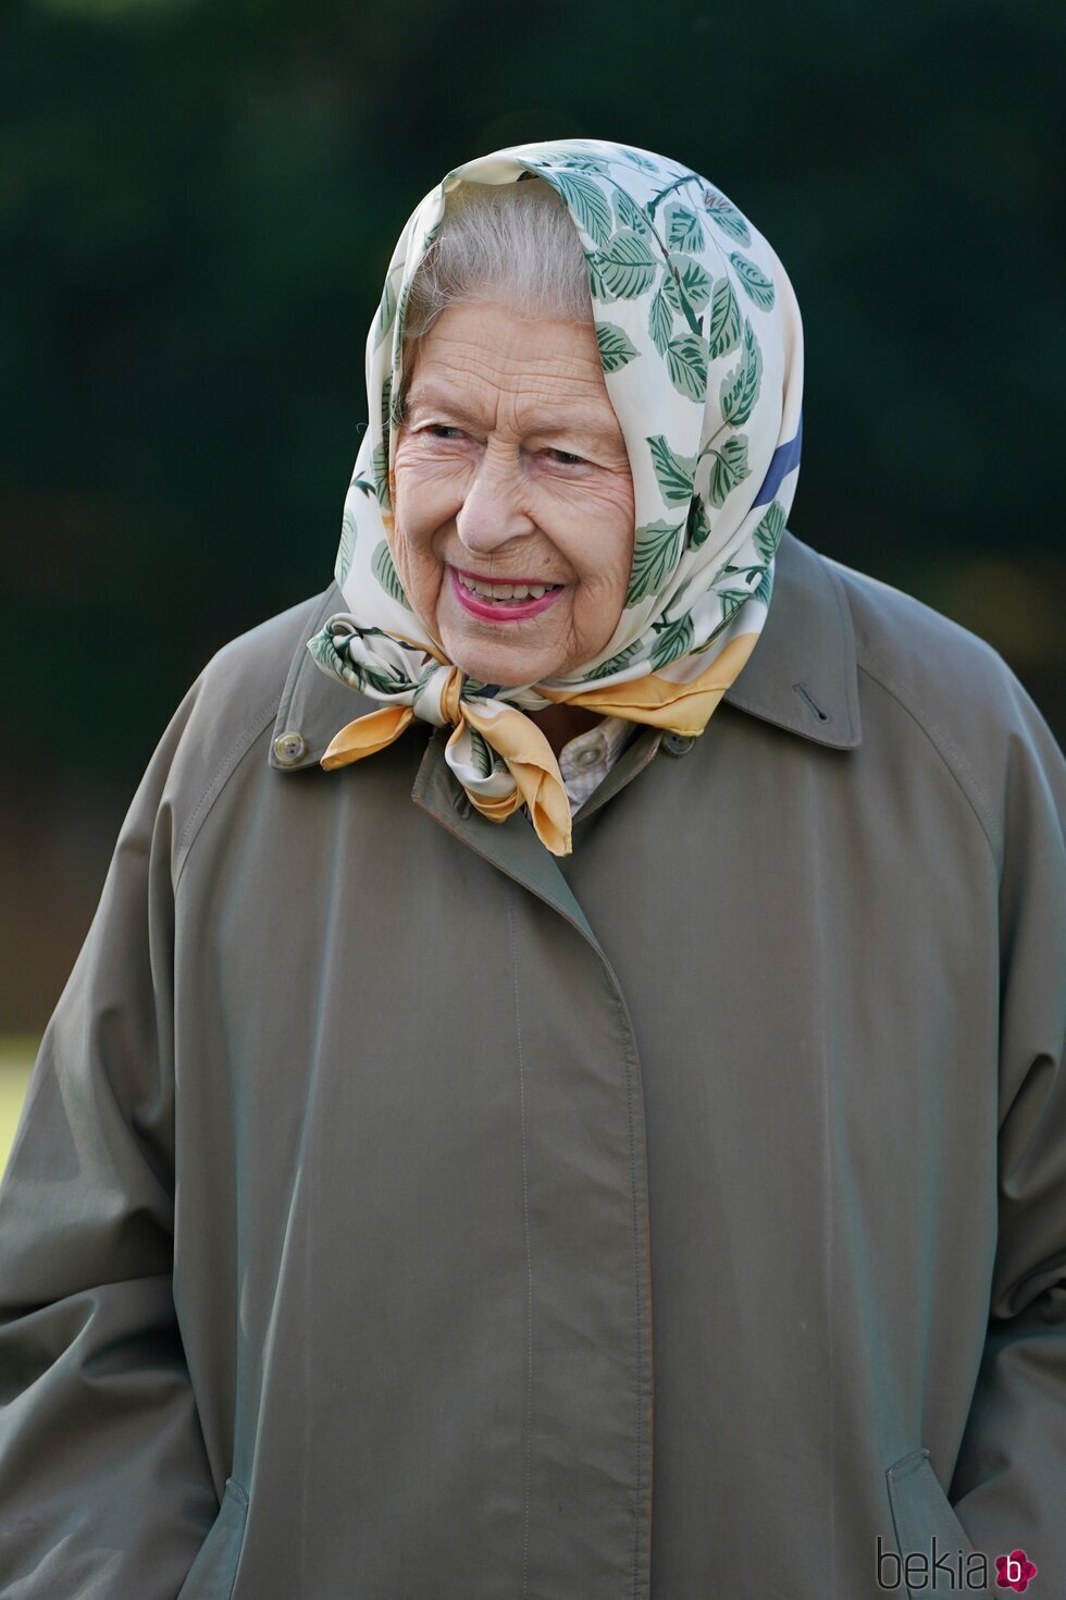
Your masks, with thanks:
<instances>
[{"instance_id":1,"label":"elderly woman in leaf-print headscarf and olive raincoat","mask_svg":"<svg viewBox=\"0 0 1066 1600\"><path fill-rule=\"evenodd\" d=\"M42 1045L8 1600L1066 1582L1063 768L785 533L801 378L676 162L404 227L336 582L185 696Z\"/></svg>"}]
</instances>

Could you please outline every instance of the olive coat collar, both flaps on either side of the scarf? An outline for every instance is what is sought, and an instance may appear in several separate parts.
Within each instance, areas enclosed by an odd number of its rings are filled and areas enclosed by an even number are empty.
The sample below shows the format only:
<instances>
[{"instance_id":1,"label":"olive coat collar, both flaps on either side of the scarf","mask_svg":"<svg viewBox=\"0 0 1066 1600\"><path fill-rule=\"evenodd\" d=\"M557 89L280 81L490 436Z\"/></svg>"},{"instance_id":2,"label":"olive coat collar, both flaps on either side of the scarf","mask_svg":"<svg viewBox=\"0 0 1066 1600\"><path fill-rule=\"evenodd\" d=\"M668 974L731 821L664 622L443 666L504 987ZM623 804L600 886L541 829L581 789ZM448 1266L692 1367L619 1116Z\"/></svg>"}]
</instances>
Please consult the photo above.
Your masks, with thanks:
<instances>
[{"instance_id":1,"label":"olive coat collar, both flaps on either side of the scarf","mask_svg":"<svg viewBox=\"0 0 1066 1600\"><path fill-rule=\"evenodd\" d=\"M280 771L316 765L339 728L379 709L377 701L329 678L307 650L326 618L344 610L332 582L304 626L270 736L268 762ZM861 742L857 677L842 584L829 562L786 533L766 627L726 702L802 739L852 750Z\"/></svg>"}]
</instances>

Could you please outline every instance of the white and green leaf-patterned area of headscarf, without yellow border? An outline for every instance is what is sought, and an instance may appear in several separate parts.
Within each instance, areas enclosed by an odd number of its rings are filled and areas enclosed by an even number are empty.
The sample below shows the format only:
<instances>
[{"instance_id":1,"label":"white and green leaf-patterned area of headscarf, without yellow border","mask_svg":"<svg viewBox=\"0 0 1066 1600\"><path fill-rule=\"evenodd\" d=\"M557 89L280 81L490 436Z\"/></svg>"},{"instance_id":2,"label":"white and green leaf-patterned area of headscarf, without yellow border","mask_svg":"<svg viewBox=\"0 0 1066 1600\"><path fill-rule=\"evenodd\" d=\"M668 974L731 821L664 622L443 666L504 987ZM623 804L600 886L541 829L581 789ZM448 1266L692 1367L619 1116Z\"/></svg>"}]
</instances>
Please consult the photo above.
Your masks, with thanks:
<instances>
[{"instance_id":1,"label":"white and green leaf-patterned area of headscarf, without yellow border","mask_svg":"<svg viewBox=\"0 0 1066 1600\"><path fill-rule=\"evenodd\" d=\"M802 352L793 296L766 240L719 189L676 162L595 139L515 146L457 166L408 221L368 346L368 384L380 395L380 413L371 408L336 562L350 606L344 616L361 643L337 650L328 630L308 643L323 670L411 704L417 696L428 706L428 685L451 669L412 643L430 643L427 619L411 608L392 557L388 472L401 422L403 317L451 187L524 174L551 182L579 230L638 525L614 635L598 659L547 686L692 675L689 659L722 648L735 624L758 632L794 493L790 469L774 480L772 502L753 507L774 451L796 432L798 400L788 422L782 400L788 363ZM462 694L484 706L497 693L519 707L547 704L537 686L479 694L487 688L463 678ZM452 765L462 765L463 782L508 792L489 739L467 725L459 746Z\"/></svg>"}]
</instances>

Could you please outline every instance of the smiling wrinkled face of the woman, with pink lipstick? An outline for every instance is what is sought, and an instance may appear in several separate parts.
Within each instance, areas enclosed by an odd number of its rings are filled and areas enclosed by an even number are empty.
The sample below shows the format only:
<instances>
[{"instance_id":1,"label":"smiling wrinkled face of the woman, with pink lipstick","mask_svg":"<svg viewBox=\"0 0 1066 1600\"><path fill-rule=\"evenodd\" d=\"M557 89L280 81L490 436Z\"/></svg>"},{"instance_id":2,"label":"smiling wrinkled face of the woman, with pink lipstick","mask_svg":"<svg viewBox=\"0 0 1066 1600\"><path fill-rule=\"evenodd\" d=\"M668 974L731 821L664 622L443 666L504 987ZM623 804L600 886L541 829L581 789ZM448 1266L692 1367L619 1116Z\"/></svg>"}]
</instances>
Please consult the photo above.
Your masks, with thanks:
<instances>
[{"instance_id":1,"label":"smiling wrinkled face of the woman, with pink lipstick","mask_svg":"<svg viewBox=\"0 0 1066 1600\"><path fill-rule=\"evenodd\" d=\"M420 342L396 438L393 555L411 605L484 683L537 683L614 634L633 477L588 325L451 306ZM494 603L468 582L558 586Z\"/></svg>"}]
</instances>

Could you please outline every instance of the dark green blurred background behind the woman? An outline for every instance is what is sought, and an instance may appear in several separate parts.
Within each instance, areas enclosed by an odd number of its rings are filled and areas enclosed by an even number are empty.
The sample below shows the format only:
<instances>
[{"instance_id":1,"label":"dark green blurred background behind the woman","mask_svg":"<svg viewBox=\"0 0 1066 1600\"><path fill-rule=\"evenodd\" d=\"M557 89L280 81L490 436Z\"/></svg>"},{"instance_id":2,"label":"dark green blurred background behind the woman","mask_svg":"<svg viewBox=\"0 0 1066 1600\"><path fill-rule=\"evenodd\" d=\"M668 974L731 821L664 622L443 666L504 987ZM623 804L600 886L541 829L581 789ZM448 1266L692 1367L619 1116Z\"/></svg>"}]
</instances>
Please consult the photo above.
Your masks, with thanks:
<instances>
[{"instance_id":1,"label":"dark green blurred background behind the woman","mask_svg":"<svg viewBox=\"0 0 1066 1600\"><path fill-rule=\"evenodd\" d=\"M1063 688L1066 6L10 0L0 22L0 1032L46 1021L227 638L323 589L363 342L462 160L703 171L804 312L791 526Z\"/></svg>"}]
</instances>

